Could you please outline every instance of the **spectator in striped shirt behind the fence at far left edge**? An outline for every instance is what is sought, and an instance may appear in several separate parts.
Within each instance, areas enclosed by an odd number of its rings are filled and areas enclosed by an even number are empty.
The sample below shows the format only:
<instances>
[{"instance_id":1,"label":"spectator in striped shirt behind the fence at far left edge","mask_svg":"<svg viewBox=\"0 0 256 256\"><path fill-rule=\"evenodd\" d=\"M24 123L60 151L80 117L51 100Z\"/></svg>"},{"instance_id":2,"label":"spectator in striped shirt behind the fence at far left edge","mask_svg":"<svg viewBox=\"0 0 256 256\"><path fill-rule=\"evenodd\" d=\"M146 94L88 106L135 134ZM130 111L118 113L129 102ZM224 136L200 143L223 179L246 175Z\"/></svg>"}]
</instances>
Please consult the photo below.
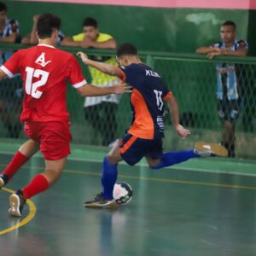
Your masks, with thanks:
<instances>
[{"instance_id":1,"label":"spectator in striped shirt behind the fence at far left edge","mask_svg":"<svg viewBox=\"0 0 256 256\"><path fill-rule=\"evenodd\" d=\"M1 43L19 43L20 31L19 22L9 19L7 16L7 6L5 3L0 3L0 44ZM0 66L5 61L8 61L13 55L12 50L0 49ZM8 130L9 137L19 137L20 121L15 116L13 118L9 112L13 108L15 113L20 113L20 75L16 75L13 79L4 79L0 83L0 118L3 126Z\"/></svg>"}]
</instances>

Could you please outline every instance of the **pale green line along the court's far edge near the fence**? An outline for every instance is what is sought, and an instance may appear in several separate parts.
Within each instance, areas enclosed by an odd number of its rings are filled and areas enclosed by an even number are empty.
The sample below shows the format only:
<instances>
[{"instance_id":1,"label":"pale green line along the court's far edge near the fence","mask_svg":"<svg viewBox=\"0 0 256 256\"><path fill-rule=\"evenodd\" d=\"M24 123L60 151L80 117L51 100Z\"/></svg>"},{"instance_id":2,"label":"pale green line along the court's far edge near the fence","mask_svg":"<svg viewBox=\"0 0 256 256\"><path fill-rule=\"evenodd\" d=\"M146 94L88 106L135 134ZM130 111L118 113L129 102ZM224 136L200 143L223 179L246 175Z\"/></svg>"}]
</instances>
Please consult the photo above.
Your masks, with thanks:
<instances>
[{"instance_id":1,"label":"pale green line along the court's far edge near the fence","mask_svg":"<svg viewBox=\"0 0 256 256\"><path fill-rule=\"evenodd\" d=\"M13 152L2 152L0 151L0 154L14 154ZM33 157L37 157L37 158L43 158L42 155L34 155ZM74 161L84 161L84 162L96 162L96 163L102 163L102 160L96 160L96 159L84 159L84 158L79 158L79 157L69 157L67 158L67 160L74 160ZM120 166L128 166L125 161L121 161L119 162ZM241 163L241 165L249 165L249 166L256 166L254 164L251 163ZM143 164L143 163L138 163L136 166L143 166L143 167L148 167L147 164ZM132 166L131 166L132 168ZM178 167L178 166L169 166L166 167L165 169L171 169L171 170L182 170L182 171L192 171L192 172L207 172L207 173L214 173L214 174L229 174L229 175L240 175L240 176L245 176L245 177L256 177L256 172L255 173L244 173L244 172L227 172L227 171L222 171L222 170L211 170L211 169L204 169L204 168L193 168L193 167ZM158 170L154 170L154 171L158 171Z\"/></svg>"}]
</instances>

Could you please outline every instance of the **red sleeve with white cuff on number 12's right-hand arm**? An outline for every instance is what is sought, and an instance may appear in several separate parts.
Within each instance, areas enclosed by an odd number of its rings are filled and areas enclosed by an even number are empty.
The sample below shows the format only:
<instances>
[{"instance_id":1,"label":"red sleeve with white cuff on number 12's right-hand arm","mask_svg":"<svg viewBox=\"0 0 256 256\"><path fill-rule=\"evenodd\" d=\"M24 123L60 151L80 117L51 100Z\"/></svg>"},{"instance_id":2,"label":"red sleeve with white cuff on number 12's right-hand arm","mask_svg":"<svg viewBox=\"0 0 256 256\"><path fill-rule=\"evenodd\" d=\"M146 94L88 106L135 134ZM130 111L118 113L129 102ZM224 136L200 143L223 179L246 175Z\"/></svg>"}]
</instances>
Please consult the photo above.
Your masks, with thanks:
<instances>
[{"instance_id":1,"label":"red sleeve with white cuff on number 12's right-hand arm","mask_svg":"<svg viewBox=\"0 0 256 256\"><path fill-rule=\"evenodd\" d=\"M84 79L84 75L82 73L82 68L79 65L79 61L72 55L70 60L68 61L69 68L69 82L74 88L79 88L86 84L86 80Z\"/></svg>"}]
</instances>

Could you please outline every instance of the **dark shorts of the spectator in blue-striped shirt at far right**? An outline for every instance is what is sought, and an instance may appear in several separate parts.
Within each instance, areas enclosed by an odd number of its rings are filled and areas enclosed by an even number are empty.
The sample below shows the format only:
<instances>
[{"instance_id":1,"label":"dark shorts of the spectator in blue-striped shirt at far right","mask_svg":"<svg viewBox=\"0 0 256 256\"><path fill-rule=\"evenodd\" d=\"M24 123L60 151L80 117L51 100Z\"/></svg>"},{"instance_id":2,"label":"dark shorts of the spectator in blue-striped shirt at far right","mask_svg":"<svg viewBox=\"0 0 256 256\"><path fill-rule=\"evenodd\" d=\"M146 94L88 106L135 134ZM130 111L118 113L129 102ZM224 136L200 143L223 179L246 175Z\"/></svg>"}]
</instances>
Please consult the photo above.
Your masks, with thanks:
<instances>
[{"instance_id":1,"label":"dark shorts of the spectator in blue-striped shirt at far right","mask_svg":"<svg viewBox=\"0 0 256 256\"><path fill-rule=\"evenodd\" d=\"M230 121L235 123L239 116L240 101L218 101L218 116L222 121Z\"/></svg>"}]
</instances>

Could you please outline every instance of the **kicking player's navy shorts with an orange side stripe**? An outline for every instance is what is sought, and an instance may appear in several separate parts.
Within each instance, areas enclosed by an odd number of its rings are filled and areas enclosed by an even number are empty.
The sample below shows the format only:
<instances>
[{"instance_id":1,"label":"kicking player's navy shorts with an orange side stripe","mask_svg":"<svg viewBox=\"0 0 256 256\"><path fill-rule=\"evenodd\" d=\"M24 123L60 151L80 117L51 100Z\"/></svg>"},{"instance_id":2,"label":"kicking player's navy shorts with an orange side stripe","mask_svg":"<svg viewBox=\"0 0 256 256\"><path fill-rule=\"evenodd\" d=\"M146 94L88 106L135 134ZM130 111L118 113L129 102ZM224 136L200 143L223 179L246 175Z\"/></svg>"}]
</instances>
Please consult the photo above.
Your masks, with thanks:
<instances>
[{"instance_id":1,"label":"kicking player's navy shorts with an orange side stripe","mask_svg":"<svg viewBox=\"0 0 256 256\"><path fill-rule=\"evenodd\" d=\"M163 143L161 139L143 139L128 134L119 143L120 154L125 162L134 166L143 156L152 159L160 159L163 154Z\"/></svg>"}]
</instances>

